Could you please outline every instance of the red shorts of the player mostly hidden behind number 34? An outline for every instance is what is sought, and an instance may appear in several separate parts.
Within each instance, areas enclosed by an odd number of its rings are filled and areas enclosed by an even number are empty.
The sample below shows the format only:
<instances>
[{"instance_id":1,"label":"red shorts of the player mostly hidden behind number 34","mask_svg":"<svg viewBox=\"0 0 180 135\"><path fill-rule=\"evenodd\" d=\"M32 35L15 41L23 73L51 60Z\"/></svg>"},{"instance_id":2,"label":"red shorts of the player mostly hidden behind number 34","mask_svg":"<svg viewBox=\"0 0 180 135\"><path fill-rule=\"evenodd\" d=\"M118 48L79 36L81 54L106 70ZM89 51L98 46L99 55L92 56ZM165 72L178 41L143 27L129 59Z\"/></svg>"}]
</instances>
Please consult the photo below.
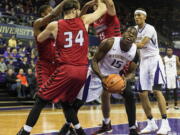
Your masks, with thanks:
<instances>
[{"instance_id":1,"label":"red shorts of the player mostly hidden behind number 34","mask_svg":"<svg viewBox=\"0 0 180 135\"><path fill-rule=\"evenodd\" d=\"M36 79L40 88L48 80L56 69L56 64L44 60L38 60L36 63Z\"/></svg>"}]
</instances>

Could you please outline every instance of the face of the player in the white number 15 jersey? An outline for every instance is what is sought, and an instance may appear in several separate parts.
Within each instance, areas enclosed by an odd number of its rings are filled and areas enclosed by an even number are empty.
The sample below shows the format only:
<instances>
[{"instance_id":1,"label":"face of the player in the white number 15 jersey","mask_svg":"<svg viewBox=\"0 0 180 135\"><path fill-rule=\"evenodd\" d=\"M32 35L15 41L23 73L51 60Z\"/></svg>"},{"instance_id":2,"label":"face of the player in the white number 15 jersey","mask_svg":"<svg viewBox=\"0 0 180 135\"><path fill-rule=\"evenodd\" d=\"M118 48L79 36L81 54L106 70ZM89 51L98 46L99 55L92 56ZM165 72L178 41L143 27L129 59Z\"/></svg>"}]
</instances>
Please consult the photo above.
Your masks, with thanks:
<instances>
[{"instance_id":1,"label":"face of the player in the white number 15 jersey","mask_svg":"<svg viewBox=\"0 0 180 135\"><path fill-rule=\"evenodd\" d=\"M123 40L127 44L132 44L133 42L135 42L136 38L137 38L137 30L133 28L128 28L123 34Z\"/></svg>"}]
</instances>

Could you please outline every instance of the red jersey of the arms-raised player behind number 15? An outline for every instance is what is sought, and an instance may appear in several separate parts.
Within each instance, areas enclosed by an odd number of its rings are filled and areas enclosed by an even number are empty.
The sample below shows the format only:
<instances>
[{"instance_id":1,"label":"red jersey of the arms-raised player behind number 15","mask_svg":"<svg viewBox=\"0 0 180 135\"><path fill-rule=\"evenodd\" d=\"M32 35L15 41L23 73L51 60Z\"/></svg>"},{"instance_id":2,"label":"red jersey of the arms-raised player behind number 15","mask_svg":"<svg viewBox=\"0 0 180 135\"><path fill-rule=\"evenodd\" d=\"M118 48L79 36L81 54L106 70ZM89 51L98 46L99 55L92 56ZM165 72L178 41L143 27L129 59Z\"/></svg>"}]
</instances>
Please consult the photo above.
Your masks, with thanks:
<instances>
[{"instance_id":1,"label":"red jersey of the arms-raised player behind number 15","mask_svg":"<svg viewBox=\"0 0 180 135\"><path fill-rule=\"evenodd\" d=\"M106 13L93 23L93 27L101 41L106 38L121 36L120 22L116 15L110 16Z\"/></svg>"}]
</instances>

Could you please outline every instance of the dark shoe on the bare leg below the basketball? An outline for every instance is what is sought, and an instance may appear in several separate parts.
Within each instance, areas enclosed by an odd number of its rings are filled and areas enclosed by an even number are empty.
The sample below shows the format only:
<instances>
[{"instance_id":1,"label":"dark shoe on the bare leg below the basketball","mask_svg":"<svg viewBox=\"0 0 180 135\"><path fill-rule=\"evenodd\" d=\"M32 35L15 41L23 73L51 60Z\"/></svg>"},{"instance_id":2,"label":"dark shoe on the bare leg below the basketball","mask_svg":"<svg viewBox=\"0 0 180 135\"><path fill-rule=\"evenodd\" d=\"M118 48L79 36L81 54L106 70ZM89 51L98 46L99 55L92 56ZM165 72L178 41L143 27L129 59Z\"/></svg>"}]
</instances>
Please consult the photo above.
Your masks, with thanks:
<instances>
[{"instance_id":1,"label":"dark shoe on the bare leg below the basketball","mask_svg":"<svg viewBox=\"0 0 180 135\"><path fill-rule=\"evenodd\" d=\"M102 127L96 132L94 132L92 135L102 135L103 133L106 133L106 132L108 133L112 132L111 122L109 122L108 124L105 124L105 122L103 121Z\"/></svg>"}]
</instances>

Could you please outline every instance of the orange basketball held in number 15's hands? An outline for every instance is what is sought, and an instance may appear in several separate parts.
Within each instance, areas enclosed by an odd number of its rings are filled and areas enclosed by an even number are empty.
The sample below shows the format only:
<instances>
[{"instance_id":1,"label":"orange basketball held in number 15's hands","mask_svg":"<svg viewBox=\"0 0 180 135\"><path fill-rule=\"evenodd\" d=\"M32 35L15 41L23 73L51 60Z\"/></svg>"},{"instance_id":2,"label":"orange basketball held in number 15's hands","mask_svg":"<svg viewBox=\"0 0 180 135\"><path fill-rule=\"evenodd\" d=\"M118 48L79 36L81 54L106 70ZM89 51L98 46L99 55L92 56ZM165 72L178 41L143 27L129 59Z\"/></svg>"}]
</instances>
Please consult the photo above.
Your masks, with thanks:
<instances>
[{"instance_id":1,"label":"orange basketball held in number 15's hands","mask_svg":"<svg viewBox=\"0 0 180 135\"><path fill-rule=\"evenodd\" d=\"M107 91L110 93L121 93L125 87L125 81L122 76L117 74L110 74L105 79Z\"/></svg>"}]
</instances>

